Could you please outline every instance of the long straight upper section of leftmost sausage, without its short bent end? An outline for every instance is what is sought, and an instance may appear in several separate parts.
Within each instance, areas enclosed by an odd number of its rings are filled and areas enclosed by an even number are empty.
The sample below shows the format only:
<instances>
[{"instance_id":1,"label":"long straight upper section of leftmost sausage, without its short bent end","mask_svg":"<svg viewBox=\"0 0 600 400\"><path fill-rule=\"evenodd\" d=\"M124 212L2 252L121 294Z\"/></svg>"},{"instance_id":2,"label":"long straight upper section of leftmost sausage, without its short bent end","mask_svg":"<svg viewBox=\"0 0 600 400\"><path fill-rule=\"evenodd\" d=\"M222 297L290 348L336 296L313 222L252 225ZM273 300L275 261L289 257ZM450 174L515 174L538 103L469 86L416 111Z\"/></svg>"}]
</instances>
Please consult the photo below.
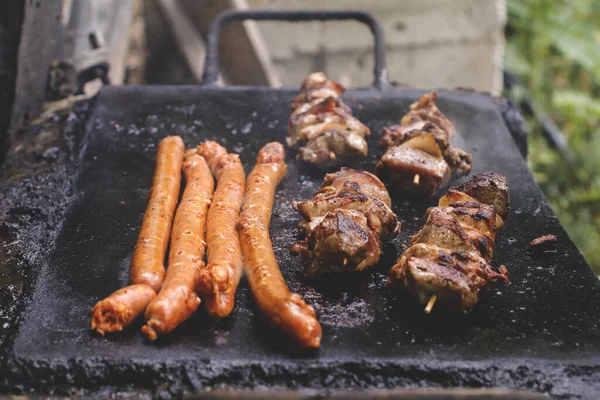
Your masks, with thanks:
<instances>
[{"instance_id":1,"label":"long straight upper section of leftmost sausage, without its short bent end","mask_svg":"<svg viewBox=\"0 0 600 400\"><path fill-rule=\"evenodd\" d=\"M131 259L131 283L145 283L156 292L165 277L165 254L179 198L183 152L179 136L168 136L158 145L148 207Z\"/></svg>"}]
</instances>

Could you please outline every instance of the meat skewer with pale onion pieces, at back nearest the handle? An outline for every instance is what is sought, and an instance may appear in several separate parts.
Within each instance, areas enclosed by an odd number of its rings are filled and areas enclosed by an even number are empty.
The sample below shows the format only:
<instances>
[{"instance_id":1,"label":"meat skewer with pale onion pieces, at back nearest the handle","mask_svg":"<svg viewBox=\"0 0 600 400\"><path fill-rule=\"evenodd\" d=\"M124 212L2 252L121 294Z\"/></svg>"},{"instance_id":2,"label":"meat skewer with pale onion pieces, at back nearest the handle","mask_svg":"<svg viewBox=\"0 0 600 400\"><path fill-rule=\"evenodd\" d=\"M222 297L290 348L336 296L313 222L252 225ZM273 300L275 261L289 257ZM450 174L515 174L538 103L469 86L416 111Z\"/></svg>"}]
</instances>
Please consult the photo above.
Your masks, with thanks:
<instances>
[{"instance_id":1,"label":"meat skewer with pale onion pieces, at back nearest the handle","mask_svg":"<svg viewBox=\"0 0 600 400\"><path fill-rule=\"evenodd\" d=\"M327 169L367 155L371 131L340 99L344 90L322 72L304 80L288 121L287 143L298 158Z\"/></svg>"}]
</instances>

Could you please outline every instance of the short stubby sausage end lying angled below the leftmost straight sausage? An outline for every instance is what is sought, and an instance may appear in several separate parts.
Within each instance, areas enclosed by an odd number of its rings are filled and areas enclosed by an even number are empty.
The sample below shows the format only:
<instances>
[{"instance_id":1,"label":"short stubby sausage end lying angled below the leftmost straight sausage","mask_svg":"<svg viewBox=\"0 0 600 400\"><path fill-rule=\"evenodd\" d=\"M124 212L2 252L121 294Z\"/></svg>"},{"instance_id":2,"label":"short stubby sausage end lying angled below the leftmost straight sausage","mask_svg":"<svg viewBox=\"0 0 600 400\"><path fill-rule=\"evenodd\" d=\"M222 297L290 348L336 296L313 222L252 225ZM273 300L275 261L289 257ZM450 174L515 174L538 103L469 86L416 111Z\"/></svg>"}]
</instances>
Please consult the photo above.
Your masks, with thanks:
<instances>
[{"instance_id":1,"label":"short stubby sausage end lying angled below the leftmost straight sausage","mask_svg":"<svg viewBox=\"0 0 600 400\"><path fill-rule=\"evenodd\" d=\"M99 334L119 332L141 315L156 292L144 283L119 289L92 308L91 329Z\"/></svg>"}]
</instances>

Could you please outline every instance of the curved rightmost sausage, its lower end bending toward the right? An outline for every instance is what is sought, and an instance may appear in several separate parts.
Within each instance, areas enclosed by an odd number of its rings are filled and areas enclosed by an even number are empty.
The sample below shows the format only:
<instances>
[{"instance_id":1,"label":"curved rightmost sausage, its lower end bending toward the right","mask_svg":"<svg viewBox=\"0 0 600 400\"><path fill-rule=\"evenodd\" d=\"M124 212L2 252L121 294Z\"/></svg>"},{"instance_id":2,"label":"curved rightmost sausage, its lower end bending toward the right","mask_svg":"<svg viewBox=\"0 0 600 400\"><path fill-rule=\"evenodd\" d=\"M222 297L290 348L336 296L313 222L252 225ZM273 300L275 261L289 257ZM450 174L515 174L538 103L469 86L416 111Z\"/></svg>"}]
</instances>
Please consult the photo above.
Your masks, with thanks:
<instances>
[{"instance_id":1,"label":"curved rightmost sausage, its lower end bending toward the right","mask_svg":"<svg viewBox=\"0 0 600 400\"><path fill-rule=\"evenodd\" d=\"M300 346L317 348L321 326L315 311L298 294L289 291L269 237L275 188L286 173L284 155L281 143L266 144L248 176L239 222L244 270L254 300L269 321Z\"/></svg>"}]
</instances>

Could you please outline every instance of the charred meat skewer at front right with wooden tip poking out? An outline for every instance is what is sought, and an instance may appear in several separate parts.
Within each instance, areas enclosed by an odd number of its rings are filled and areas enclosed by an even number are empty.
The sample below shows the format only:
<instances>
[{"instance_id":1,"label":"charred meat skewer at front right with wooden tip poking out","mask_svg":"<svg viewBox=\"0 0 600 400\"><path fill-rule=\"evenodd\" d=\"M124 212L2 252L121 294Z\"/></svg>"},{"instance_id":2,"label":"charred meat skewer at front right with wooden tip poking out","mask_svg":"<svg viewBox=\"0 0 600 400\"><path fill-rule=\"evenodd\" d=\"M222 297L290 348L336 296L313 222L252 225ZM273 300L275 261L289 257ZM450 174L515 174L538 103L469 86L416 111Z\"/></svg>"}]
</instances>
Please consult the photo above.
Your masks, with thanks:
<instances>
[{"instance_id":1,"label":"charred meat skewer at front right with wooden tip poking out","mask_svg":"<svg viewBox=\"0 0 600 400\"><path fill-rule=\"evenodd\" d=\"M467 201L465 201L467 200ZM488 282L508 282L504 266L489 264L509 209L506 178L475 175L451 188L413 236L390 271L389 286L404 286L430 313L434 304L466 310L477 303Z\"/></svg>"}]
</instances>

